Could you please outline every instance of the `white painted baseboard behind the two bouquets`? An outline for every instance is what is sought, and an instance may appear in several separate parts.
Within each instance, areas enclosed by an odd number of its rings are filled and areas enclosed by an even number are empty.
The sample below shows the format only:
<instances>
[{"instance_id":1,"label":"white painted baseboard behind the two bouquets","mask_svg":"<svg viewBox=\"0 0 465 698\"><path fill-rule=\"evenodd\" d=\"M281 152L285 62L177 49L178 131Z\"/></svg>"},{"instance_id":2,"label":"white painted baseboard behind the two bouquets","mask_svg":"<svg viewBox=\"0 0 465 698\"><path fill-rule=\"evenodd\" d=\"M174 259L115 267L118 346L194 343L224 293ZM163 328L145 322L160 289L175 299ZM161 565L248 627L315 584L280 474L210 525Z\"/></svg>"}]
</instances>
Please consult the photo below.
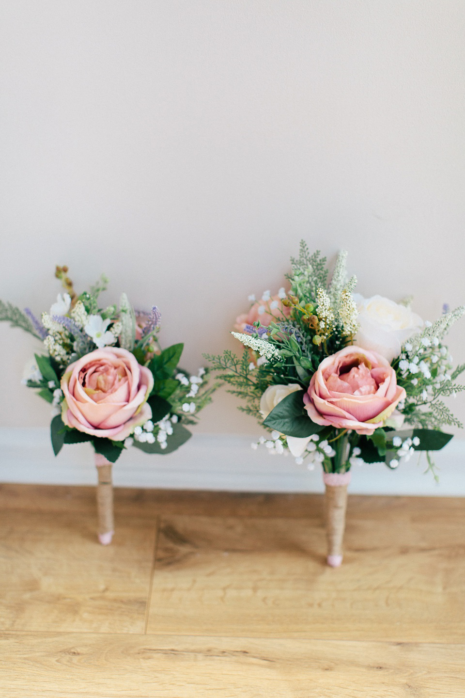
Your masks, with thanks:
<instances>
[{"instance_id":1,"label":"white painted baseboard behind the two bouquets","mask_svg":"<svg viewBox=\"0 0 465 698\"><path fill-rule=\"evenodd\" d=\"M245 492L321 492L321 471L298 466L291 457L253 451L251 439L196 434L167 456L124 452L114 467L119 487L211 489ZM454 438L436 454L439 484L423 474L414 457L395 471L382 463L353 468L351 493L465 496L465 440ZM0 429L0 482L95 484L89 444L64 447L55 458L47 429Z\"/></svg>"}]
</instances>

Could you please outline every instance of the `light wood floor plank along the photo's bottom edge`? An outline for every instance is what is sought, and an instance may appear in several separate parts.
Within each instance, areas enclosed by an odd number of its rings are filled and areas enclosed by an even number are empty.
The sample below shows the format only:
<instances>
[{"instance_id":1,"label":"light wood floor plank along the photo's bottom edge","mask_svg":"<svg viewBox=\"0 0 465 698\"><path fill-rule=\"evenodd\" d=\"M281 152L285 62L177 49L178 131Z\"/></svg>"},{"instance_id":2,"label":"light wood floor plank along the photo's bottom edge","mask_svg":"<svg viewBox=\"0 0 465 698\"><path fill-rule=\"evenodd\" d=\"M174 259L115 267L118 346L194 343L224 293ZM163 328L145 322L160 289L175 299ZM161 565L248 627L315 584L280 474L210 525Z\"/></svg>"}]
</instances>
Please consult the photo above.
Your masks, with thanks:
<instances>
[{"instance_id":1,"label":"light wood floor plank along the photo's bottom edge","mask_svg":"<svg viewBox=\"0 0 465 698\"><path fill-rule=\"evenodd\" d=\"M0 634L8 698L462 698L464 645Z\"/></svg>"}]
</instances>

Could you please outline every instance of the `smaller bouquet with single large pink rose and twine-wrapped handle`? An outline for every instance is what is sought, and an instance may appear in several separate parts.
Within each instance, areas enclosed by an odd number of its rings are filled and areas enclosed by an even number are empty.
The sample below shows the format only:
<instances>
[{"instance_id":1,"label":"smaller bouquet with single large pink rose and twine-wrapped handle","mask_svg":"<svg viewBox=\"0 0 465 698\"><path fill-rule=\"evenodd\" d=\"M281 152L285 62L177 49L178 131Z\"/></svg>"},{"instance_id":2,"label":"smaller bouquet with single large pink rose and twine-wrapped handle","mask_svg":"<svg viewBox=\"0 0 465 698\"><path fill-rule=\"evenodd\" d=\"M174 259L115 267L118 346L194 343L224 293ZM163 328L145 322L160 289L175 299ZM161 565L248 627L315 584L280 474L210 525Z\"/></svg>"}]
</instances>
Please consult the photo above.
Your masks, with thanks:
<instances>
[{"instance_id":1,"label":"smaller bouquet with single large pink rose and twine-wrapped handle","mask_svg":"<svg viewBox=\"0 0 465 698\"><path fill-rule=\"evenodd\" d=\"M40 320L0 301L0 320L10 321L43 343L24 383L52 405L54 454L64 444L89 441L98 469L98 537L108 544L114 533L112 463L136 447L167 454L190 438L186 424L211 401L207 371L190 376L178 368L183 344L160 348L160 311L135 311L123 293L119 306L102 309L102 276L77 295L68 267L56 267L59 293Z\"/></svg>"}]
</instances>

